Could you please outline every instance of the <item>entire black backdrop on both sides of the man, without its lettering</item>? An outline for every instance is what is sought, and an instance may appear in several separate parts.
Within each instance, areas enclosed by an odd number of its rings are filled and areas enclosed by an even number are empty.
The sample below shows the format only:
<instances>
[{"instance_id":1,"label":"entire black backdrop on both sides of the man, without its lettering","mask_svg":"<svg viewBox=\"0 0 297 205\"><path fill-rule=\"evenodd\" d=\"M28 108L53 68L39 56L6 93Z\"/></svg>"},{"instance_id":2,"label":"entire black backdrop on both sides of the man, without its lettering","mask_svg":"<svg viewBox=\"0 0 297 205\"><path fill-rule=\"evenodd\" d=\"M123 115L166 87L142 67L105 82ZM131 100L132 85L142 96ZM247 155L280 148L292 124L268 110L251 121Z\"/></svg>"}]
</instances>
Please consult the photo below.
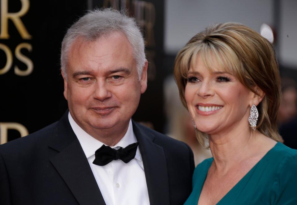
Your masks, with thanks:
<instances>
[{"instance_id":1,"label":"entire black backdrop on both sides of the man, without its lettering","mask_svg":"<svg viewBox=\"0 0 297 205\"><path fill-rule=\"evenodd\" d=\"M88 8L101 7L104 1L29 1L28 12L21 17L31 39L22 39L14 23L8 20L9 39L0 39L0 44L7 45L13 55L11 69L0 75L0 123L17 122L26 127L29 133L35 132L57 121L67 109L63 96L63 81L60 74L60 49L62 38L67 28L87 12ZM90 2L92 5L90 5ZM123 1L105 1L123 2ZM129 1L130 5L135 2ZM163 52L163 1L145 1L144 5L153 6L155 21L150 27L145 24L152 9L138 5L137 14L141 29L153 32L154 43L147 45L149 57L148 90L141 97L140 107L133 116L136 121L153 124L157 131L162 131L164 124L162 106L162 52ZM22 7L20 0L8 0L8 12L18 12ZM128 10L135 15L136 10ZM152 36L152 35L150 35ZM28 76L18 76L14 66L26 70L27 65L15 56L15 48L21 43L28 43L32 51L21 49L21 53L32 60L34 68ZM153 57L151 57L153 56ZM0 69L6 64L6 55L0 49ZM18 138L19 132L8 131L8 141Z\"/></svg>"}]
</instances>

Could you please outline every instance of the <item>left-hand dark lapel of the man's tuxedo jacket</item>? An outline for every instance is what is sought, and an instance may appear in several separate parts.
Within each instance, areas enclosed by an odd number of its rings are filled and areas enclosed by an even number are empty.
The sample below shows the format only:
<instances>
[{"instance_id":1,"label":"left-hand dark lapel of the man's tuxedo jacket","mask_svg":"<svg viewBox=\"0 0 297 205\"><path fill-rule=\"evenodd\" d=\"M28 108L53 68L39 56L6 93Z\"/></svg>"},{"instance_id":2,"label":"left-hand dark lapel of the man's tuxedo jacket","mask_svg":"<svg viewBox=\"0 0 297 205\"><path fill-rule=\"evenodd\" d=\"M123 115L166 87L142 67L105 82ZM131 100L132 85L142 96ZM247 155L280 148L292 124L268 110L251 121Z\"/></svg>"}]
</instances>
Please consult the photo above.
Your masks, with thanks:
<instances>
[{"instance_id":1,"label":"left-hand dark lapel of the man's tuxedo jacket","mask_svg":"<svg viewBox=\"0 0 297 205\"><path fill-rule=\"evenodd\" d=\"M57 123L49 147L58 151L50 159L80 205L105 205L91 167L68 121Z\"/></svg>"}]
</instances>

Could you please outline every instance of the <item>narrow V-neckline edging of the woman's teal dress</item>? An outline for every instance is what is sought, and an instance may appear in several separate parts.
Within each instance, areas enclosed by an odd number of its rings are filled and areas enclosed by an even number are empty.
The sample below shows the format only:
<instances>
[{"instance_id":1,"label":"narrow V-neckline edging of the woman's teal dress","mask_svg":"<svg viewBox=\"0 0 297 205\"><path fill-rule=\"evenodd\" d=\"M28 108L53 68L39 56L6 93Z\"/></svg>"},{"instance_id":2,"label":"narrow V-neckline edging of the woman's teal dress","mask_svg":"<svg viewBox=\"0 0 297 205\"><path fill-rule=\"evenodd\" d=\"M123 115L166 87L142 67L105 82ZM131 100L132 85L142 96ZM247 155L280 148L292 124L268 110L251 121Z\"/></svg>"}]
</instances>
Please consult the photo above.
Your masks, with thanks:
<instances>
[{"instance_id":1,"label":"narrow V-neckline edging of the woman's teal dress","mask_svg":"<svg viewBox=\"0 0 297 205\"><path fill-rule=\"evenodd\" d=\"M260 164L260 162L261 161L263 161L265 158L267 158L268 156L269 156L269 154L271 153L271 151L274 149L274 148L276 148L276 147L278 147L279 146L279 144L282 144L281 142L277 142L274 146L273 146L273 148L271 148L271 149L269 149L269 151L248 171L248 173L247 174L245 174L244 176L243 176L243 178L241 178L227 193L226 193L226 195L224 195L223 197L222 197L222 199L220 199L219 201L218 201L218 203L217 204L220 204L222 201L223 201L223 199L225 199L234 189L235 189L235 187L237 187L237 186L239 186L239 184L241 183L241 182L243 182L243 180L245 179L245 178L247 178L253 171L254 171L254 169L256 169L256 167ZM202 191L202 188L203 188L203 185L204 185L204 182L205 182L205 179L206 179L206 177L207 177L207 173L208 173L208 170L209 170L209 168L210 168L210 166L211 166L211 164L212 164L212 162L213 162L213 157L211 157L211 158L209 158L208 159L208 161L207 161L207 165L205 166L205 170L203 170L203 183L201 183L200 184L200 187L199 187L199 189L198 189L198 191L197 191L197 193L199 193L199 195L197 195L197 199L196 199L196 204L198 204L198 201L199 201L199 198L200 198L200 194L201 194L201 191Z\"/></svg>"}]
</instances>

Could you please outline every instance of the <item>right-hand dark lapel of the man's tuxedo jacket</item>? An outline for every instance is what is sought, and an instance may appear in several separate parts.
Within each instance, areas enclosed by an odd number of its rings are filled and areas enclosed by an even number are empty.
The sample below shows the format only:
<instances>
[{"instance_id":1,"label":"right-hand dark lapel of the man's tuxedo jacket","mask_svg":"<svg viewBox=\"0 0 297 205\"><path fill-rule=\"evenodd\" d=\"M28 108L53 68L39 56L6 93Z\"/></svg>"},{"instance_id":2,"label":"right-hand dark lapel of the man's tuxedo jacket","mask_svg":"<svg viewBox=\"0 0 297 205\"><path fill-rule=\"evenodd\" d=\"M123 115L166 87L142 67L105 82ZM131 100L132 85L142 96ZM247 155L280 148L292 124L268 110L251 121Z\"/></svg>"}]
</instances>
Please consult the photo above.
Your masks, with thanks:
<instances>
[{"instance_id":1,"label":"right-hand dark lapel of the man's tuxedo jacket","mask_svg":"<svg viewBox=\"0 0 297 205\"><path fill-rule=\"evenodd\" d=\"M150 204L170 204L168 171L163 148L153 143L153 134L134 122L133 131L139 142Z\"/></svg>"}]
</instances>

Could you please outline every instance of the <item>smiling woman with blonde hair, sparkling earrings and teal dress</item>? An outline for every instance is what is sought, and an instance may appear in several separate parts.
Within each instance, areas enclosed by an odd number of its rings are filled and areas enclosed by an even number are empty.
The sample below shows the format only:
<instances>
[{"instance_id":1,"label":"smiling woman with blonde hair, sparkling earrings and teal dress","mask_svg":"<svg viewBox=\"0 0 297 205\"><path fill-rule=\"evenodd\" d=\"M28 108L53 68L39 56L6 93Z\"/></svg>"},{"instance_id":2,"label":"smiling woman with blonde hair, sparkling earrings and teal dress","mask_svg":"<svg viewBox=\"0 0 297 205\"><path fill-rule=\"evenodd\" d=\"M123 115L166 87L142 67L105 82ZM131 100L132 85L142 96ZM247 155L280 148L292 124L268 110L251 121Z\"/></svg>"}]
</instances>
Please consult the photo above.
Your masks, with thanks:
<instances>
[{"instance_id":1,"label":"smiling woman with blonde hair, sparkling earrings and teal dress","mask_svg":"<svg viewBox=\"0 0 297 205\"><path fill-rule=\"evenodd\" d=\"M239 23L206 28L182 48L174 77L212 158L193 174L185 204L297 204L297 150L282 144L273 46Z\"/></svg>"}]
</instances>

